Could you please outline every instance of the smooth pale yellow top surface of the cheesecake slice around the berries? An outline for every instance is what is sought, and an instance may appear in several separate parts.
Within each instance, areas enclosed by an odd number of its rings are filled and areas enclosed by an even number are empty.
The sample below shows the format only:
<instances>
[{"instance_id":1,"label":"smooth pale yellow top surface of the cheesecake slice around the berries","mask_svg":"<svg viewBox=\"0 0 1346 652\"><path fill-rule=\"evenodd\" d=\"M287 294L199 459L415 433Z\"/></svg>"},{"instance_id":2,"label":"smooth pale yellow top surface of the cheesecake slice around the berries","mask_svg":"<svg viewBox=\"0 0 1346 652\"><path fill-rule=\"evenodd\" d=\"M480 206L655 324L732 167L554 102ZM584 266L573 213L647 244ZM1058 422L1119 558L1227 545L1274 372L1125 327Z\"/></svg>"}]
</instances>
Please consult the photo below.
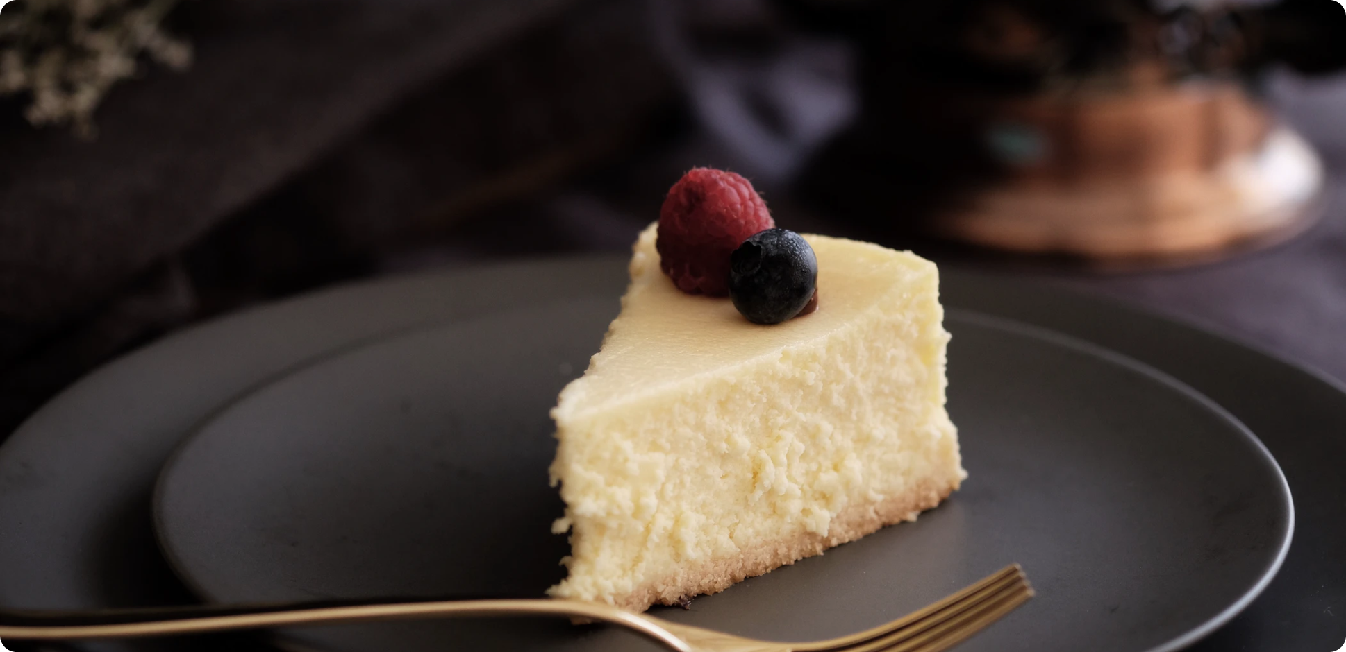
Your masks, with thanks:
<instances>
[{"instance_id":1,"label":"smooth pale yellow top surface of the cheesecake slice around the berries","mask_svg":"<svg viewBox=\"0 0 1346 652\"><path fill-rule=\"evenodd\" d=\"M818 259L818 309L775 325L746 320L728 298L678 290L660 269L656 225L634 246L631 285L622 313L608 327L602 350L583 378L560 395L555 415L581 417L616 402L732 368L836 333L902 305L899 296L938 282L933 262L909 251L824 235L804 238ZM938 307L935 307L938 309Z\"/></svg>"}]
</instances>

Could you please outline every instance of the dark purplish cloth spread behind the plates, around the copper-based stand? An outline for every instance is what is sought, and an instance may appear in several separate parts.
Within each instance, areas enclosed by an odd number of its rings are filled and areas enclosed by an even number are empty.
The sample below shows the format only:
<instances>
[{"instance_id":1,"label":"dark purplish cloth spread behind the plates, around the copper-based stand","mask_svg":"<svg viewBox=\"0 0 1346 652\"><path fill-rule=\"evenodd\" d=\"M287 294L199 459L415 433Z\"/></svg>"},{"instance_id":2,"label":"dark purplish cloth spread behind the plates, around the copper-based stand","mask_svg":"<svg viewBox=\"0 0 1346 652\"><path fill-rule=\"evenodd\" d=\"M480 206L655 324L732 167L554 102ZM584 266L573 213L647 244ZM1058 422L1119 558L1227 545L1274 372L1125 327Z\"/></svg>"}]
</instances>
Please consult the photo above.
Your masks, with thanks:
<instances>
[{"instance_id":1,"label":"dark purplish cloth spread behind the plates, around the copper-based stand","mask_svg":"<svg viewBox=\"0 0 1346 652\"><path fill-rule=\"evenodd\" d=\"M791 211L783 184L853 114L849 55L763 1L187 7L195 67L116 89L97 141L0 125L5 425L109 355L222 309L386 270L622 250L695 164L763 181L786 226L851 226ZM1280 74L1269 89L1337 169L1346 82ZM1264 251L1001 273L1346 378L1346 199L1330 183L1320 223Z\"/></svg>"}]
</instances>

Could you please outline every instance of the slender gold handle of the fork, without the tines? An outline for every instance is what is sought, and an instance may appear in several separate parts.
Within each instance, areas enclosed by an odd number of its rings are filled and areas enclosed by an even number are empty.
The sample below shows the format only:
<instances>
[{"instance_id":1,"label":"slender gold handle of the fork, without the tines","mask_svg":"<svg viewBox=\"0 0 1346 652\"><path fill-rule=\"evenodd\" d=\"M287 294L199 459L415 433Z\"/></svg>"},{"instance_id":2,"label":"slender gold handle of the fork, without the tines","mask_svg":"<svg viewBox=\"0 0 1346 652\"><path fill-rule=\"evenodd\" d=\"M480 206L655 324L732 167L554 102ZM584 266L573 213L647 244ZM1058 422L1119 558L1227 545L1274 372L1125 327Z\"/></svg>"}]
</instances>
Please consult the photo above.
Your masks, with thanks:
<instances>
[{"instance_id":1,"label":"slender gold handle of the fork, without the tines","mask_svg":"<svg viewBox=\"0 0 1346 652\"><path fill-rule=\"evenodd\" d=\"M0 612L0 640L129 639L234 629L381 620L555 616L611 622L680 652L685 643L656 622L611 605L576 600L439 600L195 605L98 612Z\"/></svg>"}]
</instances>

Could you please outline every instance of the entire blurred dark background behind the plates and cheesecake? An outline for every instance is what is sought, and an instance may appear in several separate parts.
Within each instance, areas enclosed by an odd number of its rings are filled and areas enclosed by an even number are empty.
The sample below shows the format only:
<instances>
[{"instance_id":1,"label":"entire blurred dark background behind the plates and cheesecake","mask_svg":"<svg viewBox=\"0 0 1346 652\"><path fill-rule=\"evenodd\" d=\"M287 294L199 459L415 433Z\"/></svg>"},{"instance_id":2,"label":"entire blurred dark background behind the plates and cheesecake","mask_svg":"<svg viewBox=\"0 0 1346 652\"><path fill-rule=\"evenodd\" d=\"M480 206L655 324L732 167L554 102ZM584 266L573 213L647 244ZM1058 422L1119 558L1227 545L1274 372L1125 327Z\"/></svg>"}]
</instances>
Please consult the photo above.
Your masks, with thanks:
<instances>
[{"instance_id":1,"label":"entire blurred dark background behind the plates and cheesecake","mask_svg":"<svg viewBox=\"0 0 1346 652\"><path fill-rule=\"evenodd\" d=\"M11 0L0 433L226 311L626 251L693 165L1346 378L1343 65L1331 0Z\"/></svg>"}]
</instances>

